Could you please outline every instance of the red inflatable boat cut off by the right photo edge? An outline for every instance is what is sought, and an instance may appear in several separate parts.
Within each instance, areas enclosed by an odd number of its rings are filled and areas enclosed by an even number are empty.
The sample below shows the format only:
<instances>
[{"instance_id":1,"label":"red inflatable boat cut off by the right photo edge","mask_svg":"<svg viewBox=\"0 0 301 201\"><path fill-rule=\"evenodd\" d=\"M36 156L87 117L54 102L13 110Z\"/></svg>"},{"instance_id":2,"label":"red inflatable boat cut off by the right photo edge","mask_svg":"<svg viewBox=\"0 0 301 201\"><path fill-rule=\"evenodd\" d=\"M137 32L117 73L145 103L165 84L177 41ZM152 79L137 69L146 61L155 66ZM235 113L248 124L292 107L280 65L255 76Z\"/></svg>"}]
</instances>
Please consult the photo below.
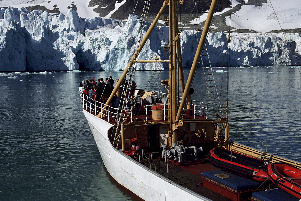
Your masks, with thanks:
<instances>
[{"instance_id":1,"label":"red inflatable boat cut off by the right photo edge","mask_svg":"<svg viewBox=\"0 0 301 201\"><path fill-rule=\"evenodd\" d=\"M268 165L269 179L279 188L301 199L301 170L285 163Z\"/></svg>"}]
</instances>

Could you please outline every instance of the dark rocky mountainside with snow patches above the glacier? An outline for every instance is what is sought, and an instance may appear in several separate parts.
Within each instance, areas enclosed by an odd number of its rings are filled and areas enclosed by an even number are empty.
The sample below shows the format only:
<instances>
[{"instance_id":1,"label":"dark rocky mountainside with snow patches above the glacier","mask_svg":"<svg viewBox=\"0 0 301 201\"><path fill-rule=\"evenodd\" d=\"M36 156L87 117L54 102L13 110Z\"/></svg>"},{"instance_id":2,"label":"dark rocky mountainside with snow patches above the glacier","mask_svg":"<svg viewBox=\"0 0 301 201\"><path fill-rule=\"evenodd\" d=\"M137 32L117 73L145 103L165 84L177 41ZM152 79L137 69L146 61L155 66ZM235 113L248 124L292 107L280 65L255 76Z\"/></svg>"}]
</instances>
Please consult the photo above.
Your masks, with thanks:
<instances>
[{"instance_id":1,"label":"dark rocky mountainside with snow patches above the glacier","mask_svg":"<svg viewBox=\"0 0 301 201\"><path fill-rule=\"evenodd\" d=\"M162 6L163 0L152 1L152 9L148 12L148 19L153 19ZM197 2L194 12L191 9ZM137 3L137 4L136 4ZM185 29L194 29L193 21L200 23L206 20L211 1L187 0L180 5L180 21L186 22ZM272 4L271 4L272 3ZM231 20L230 20L230 5ZM0 7L27 7L28 10L40 9L48 13L62 13L66 15L70 8L77 11L79 17L112 17L126 20L129 14L142 14L144 1L131 0L0 0ZM135 8L135 9L134 9ZM301 3L300 0L219 0L213 27L216 32L231 30L240 32L269 32L282 29L300 28ZM276 15L275 15L276 13ZM194 19L194 20L192 20ZM190 21L190 22L189 22ZM299 31L300 33L300 31Z\"/></svg>"}]
</instances>

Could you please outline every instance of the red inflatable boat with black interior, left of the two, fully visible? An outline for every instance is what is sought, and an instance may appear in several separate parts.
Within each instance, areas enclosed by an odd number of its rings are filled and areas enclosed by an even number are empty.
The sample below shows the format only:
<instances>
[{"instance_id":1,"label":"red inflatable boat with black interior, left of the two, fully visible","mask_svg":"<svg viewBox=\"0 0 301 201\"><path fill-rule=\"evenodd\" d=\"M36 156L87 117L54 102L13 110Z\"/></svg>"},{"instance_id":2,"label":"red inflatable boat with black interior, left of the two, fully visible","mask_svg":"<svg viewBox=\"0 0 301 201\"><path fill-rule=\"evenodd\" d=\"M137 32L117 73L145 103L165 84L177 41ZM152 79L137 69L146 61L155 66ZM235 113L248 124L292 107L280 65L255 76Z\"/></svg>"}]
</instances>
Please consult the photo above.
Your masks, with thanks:
<instances>
[{"instance_id":1,"label":"red inflatable boat with black interior, left of the two, fully visible","mask_svg":"<svg viewBox=\"0 0 301 201\"><path fill-rule=\"evenodd\" d=\"M239 175L258 182L268 181L265 162L223 148L213 148L208 158L213 166L226 172Z\"/></svg>"}]
</instances>

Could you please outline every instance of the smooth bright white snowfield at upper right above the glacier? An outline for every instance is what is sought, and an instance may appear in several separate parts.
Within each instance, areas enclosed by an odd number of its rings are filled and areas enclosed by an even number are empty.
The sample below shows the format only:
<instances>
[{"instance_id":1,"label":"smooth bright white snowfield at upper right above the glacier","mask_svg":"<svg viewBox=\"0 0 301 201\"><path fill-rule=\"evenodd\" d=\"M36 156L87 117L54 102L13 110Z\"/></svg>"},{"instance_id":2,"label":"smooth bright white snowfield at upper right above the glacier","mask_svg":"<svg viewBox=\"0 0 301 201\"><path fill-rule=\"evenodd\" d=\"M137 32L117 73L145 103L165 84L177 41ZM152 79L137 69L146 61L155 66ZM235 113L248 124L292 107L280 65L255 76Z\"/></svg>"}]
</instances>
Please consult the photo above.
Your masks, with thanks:
<instances>
[{"instance_id":1,"label":"smooth bright white snowfield at upper right above the glacier","mask_svg":"<svg viewBox=\"0 0 301 201\"><path fill-rule=\"evenodd\" d=\"M269 32L281 28L301 28L300 0L273 0L266 1L261 6L248 4L238 6L241 6L241 9L231 15L231 20L230 16L225 17L227 25L234 27L233 31L252 29L256 32Z\"/></svg>"}]
</instances>

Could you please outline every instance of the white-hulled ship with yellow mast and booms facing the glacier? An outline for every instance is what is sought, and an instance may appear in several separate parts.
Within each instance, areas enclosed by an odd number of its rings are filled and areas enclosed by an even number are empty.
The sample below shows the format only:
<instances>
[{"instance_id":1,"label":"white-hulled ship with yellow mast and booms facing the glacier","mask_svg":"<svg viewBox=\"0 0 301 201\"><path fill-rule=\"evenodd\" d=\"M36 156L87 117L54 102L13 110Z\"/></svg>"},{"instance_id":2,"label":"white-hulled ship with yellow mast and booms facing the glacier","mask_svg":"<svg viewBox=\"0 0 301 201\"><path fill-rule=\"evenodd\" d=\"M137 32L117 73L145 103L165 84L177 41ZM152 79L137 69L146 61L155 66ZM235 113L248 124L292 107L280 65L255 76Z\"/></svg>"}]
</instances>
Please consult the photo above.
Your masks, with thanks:
<instances>
[{"instance_id":1,"label":"white-hulled ship with yellow mast and booms facing the glacier","mask_svg":"<svg viewBox=\"0 0 301 201\"><path fill-rule=\"evenodd\" d=\"M149 2L145 1L145 10L149 9ZM95 101L90 100L88 96L82 97L82 111L108 173L137 198L240 200L244 194L250 193L249 189L231 190L212 178L202 176L203 172L221 171L208 159L208 153L213 148L226 149L269 163L281 162L301 168L299 162L231 142L227 115L228 101L225 107L222 107L218 102L216 91L209 91L212 93L212 100L217 100L217 102L210 101L210 104L215 106L213 115L208 114L208 104L192 99L195 90L191 88L192 81L201 63L200 57L217 2L217 0L211 2L186 83L178 26L178 6L184 2L163 0L160 11L145 31L144 20L141 20L141 33L143 33L141 35L144 37L136 43L135 52L111 93L103 94L101 100ZM169 16L162 16L166 9L169 10ZM144 13L144 16L146 15ZM141 49L159 20L169 26L169 44L162 47L164 52L168 53L168 58L154 57L138 60ZM135 66L145 62L168 64L169 77L161 80L160 83L165 92L133 87ZM211 85L210 88L216 90L212 69L208 66L203 68L208 69L209 72L207 85ZM240 178L239 173L233 176L227 172L218 173L225 178ZM244 182L252 183L250 180ZM255 187L257 183L253 182L253 185ZM260 188L256 186L257 190L265 190L266 187L262 187L262 184L258 185ZM222 194L221 190L225 193Z\"/></svg>"}]
</instances>

